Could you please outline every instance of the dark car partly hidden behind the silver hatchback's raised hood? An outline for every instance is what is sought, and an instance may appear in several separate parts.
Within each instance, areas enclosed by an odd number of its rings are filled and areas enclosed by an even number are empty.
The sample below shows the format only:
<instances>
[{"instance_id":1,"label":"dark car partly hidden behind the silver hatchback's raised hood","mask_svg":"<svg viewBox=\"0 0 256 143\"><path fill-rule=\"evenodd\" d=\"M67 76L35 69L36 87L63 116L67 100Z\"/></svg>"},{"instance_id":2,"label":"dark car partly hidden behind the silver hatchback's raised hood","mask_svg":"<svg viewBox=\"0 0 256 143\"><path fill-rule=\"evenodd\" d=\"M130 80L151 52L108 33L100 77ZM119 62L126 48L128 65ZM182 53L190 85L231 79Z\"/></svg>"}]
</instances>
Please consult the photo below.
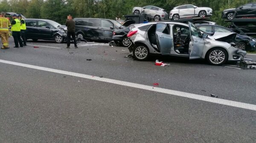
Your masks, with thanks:
<instances>
[{"instance_id":1,"label":"dark car partly hidden behind the silver hatchback's raised hood","mask_svg":"<svg viewBox=\"0 0 256 143\"><path fill-rule=\"evenodd\" d=\"M201 31L211 36L215 36L216 34L221 35L221 33L234 33L234 31L231 31L230 29L219 26L219 25L201 24L201 25L197 25L197 27ZM237 48L242 50L248 50L248 51L256 50L256 39L249 36L236 34L235 44Z\"/></svg>"}]
</instances>

